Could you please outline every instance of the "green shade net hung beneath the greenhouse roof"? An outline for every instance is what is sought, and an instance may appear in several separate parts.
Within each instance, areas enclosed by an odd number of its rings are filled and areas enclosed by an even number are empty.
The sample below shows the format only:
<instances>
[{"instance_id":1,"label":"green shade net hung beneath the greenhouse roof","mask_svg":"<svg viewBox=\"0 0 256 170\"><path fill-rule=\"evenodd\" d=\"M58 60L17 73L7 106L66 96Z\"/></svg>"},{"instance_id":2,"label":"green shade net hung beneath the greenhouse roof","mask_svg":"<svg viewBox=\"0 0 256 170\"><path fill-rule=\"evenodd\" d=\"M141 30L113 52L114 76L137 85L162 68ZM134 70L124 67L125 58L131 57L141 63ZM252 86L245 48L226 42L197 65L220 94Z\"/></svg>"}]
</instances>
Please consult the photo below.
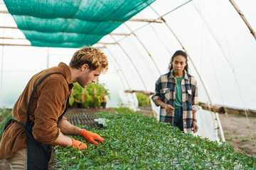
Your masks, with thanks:
<instances>
[{"instance_id":1,"label":"green shade net hung beneath the greenhouse roof","mask_svg":"<svg viewBox=\"0 0 256 170\"><path fill-rule=\"evenodd\" d=\"M97 43L155 0L4 0L31 45L82 47Z\"/></svg>"}]
</instances>

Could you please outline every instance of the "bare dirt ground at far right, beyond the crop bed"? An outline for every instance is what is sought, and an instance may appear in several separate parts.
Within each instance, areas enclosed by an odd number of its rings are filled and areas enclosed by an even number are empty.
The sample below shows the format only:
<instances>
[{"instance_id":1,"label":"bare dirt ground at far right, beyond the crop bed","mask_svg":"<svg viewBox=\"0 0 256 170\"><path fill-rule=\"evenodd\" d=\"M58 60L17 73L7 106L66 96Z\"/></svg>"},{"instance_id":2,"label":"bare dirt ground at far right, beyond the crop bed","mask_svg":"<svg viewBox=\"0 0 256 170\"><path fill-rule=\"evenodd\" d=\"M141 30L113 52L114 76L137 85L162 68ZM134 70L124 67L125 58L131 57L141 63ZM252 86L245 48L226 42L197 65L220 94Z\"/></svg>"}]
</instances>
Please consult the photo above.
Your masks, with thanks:
<instances>
[{"instance_id":1,"label":"bare dirt ground at far right, beyond the crop bed","mask_svg":"<svg viewBox=\"0 0 256 170\"><path fill-rule=\"evenodd\" d=\"M256 118L232 114L219 114L225 140L236 149L256 156Z\"/></svg>"}]
</instances>

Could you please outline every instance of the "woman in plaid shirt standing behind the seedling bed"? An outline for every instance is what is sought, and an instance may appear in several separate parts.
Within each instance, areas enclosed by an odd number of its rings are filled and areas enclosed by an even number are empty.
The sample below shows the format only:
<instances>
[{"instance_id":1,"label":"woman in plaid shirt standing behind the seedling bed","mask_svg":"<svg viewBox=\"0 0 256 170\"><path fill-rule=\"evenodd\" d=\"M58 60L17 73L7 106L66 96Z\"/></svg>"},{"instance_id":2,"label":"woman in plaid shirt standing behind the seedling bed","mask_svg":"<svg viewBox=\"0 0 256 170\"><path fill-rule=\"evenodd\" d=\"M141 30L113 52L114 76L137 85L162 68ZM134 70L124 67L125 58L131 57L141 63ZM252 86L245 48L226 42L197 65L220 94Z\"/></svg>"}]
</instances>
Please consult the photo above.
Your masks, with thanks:
<instances>
[{"instance_id":1,"label":"woman in plaid shirt standing behind the seedling bed","mask_svg":"<svg viewBox=\"0 0 256 170\"><path fill-rule=\"evenodd\" d=\"M156 81L156 94L152 100L161 107L161 122L171 123L185 133L198 131L198 87L195 77L188 74L186 52L178 50L171 57L169 72Z\"/></svg>"}]
</instances>

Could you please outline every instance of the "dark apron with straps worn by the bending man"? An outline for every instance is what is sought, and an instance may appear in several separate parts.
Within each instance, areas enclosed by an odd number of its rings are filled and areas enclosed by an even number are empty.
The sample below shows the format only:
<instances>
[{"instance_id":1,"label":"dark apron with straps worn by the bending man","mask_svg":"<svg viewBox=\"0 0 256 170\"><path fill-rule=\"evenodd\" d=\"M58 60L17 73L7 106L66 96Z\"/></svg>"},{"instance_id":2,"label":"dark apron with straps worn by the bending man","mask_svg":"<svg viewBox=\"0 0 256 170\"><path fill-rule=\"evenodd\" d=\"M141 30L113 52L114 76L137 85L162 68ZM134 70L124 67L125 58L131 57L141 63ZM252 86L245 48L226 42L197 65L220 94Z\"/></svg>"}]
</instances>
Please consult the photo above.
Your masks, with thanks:
<instances>
[{"instance_id":1,"label":"dark apron with straps worn by the bending man","mask_svg":"<svg viewBox=\"0 0 256 170\"><path fill-rule=\"evenodd\" d=\"M62 74L62 73L53 72L53 73L50 73L50 74ZM4 130L5 130L8 127L8 125L10 125L12 122L15 121L16 123L18 123L19 125L22 125L25 128L26 137L27 137L27 147L28 147L28 155L27 155L28 156L28 159L27 159L28 160L28 170L48 169L48 162L50 161L50 157L51 157L52 146L51 145L44 145L43 143L39 142L38 140L36 140L33 137L32 128L33 128L34 124L31 123L31 121L29 119L29 109L30 109L30 106L31 106L31 100L33 98L33 94L35 93L38 85L41 84L43 79L48 77L50 74L47 74L45 77L43 77L38 82L38 84L36 84L36 86L34 87L34 89L32 91L32 94L31 94L31 97L30 97L29 103L28 103L26 125L24 125L23 123L18 122L17 120L11 119L6 123L6 125L4 127ZM63 76L64 76L64 74L63 74ZM65 112L68 109L68 103L69 103L69 97L68 97L64 112L58 118L57 126L60 123L60 120L63 118L63 115L65 114Z\"/></svg>"}]
</instances>

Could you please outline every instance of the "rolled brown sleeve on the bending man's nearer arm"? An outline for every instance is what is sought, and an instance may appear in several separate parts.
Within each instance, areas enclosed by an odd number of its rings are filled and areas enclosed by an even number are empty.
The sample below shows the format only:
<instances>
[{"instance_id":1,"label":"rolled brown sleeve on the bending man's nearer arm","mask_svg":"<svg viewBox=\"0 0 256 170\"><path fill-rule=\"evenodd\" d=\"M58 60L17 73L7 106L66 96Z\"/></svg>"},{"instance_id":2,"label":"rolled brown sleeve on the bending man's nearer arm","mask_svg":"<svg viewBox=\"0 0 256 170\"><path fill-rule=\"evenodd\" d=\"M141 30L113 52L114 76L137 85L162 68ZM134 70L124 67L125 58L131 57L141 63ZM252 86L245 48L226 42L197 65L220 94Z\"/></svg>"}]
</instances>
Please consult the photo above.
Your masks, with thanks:
<instances>
[{"instance_id":1,"label":"rolled brown sleeve on the bending man's nearer arm","mask_svg":"<svg viewBox=\"0 0 256 170\"><path fill-rule=\"evenodd\" d=\"M33 136L39 142L51 145L60 134L57 121L65 109L65 96L65 86L58 79L47 81L41 89L33 126Z\"/></svg>"}]
</instances>

